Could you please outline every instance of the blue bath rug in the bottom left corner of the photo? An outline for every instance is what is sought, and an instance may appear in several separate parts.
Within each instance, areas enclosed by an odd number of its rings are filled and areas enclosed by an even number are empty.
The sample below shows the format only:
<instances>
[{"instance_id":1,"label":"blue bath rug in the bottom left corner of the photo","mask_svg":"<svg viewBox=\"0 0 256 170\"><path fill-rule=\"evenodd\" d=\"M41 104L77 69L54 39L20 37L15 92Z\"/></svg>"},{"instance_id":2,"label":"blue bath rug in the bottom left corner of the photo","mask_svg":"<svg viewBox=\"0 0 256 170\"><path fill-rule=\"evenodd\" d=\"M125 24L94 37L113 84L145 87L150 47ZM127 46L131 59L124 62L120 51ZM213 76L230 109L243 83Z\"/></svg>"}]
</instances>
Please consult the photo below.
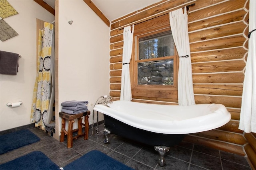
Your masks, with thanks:
<instances>
[{"instance_id":1,"label":"blue bath rug in the bottom left corner of the photo","mask_svg":"<svg viewBox=\"0 0 256 170\"><path fill-rule=\"evenodd\" d=\"M4 164L1 170L60 170L45 154L34 151Z\"/></svg>"}]
</instances>

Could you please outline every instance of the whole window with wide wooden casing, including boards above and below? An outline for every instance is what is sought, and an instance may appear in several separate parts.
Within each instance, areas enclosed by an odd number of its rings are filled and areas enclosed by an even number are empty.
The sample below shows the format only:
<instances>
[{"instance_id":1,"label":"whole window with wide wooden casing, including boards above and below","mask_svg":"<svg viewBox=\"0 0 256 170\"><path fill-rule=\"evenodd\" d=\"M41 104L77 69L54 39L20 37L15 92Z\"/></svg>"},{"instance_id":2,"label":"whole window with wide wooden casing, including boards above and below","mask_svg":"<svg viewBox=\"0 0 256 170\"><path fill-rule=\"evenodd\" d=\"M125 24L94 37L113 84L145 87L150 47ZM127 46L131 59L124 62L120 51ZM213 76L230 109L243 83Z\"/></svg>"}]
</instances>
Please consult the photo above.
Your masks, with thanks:
<instances>
[{"instance_id":1,"label":"whole window with wide wooden casing, including boards above and below","mask_svg":"<svg viewBox=\"0 0 256 170\"><path fill-rule=\"evenodd\" d=\"M132 98L178 103L178 55L169 14L136 24L133 41Z\"/></svg>"}]
</instances>

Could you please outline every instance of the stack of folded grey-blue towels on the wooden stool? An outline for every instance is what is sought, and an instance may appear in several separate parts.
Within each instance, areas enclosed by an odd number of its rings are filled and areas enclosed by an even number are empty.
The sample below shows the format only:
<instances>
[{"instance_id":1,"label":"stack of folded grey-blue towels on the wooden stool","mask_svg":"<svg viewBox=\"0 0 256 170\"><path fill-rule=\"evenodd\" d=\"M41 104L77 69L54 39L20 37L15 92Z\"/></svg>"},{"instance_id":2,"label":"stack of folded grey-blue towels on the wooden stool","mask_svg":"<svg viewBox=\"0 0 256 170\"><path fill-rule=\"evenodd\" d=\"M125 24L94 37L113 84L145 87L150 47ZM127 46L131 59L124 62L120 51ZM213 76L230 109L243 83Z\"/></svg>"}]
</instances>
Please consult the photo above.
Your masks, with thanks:
<instances>
[{"instance_id":1,"label":"stack of folded grey-blue towels on the wooden stool","mask_svg":"<svg viewBox=\"0 0 256 170\"><path fill-rule=\"evenodd\" d=\"M88 105L88 101L77 101L77 100L66 101L61 103L61 106L62 106L61 111L68 114L82 113L82 112L88 111L87 105Z\"/></svg>"}]
</instances>

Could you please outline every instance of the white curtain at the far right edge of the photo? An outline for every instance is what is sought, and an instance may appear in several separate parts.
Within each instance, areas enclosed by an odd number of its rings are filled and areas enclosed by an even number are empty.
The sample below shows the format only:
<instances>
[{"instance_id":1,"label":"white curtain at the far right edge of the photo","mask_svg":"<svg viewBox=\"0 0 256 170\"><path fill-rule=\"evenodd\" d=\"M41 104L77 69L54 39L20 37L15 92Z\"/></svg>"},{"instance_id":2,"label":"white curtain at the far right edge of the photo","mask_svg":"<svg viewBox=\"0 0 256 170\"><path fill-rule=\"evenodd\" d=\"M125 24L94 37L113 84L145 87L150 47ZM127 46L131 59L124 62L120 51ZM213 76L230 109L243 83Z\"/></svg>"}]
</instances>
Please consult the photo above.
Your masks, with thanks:
<instances>
[{"instance_id":1,"label":"white curtain at the far right edge of the photo","mask_svg":"<svg viewBox=\"0 0 256 170\"><path fill-rule=\"evenodd\" d=\"M256 29L256 1L250 0L249 31ZM256 133L256 31L250 34L239 129Z\"/></svg>"}]
</instances>

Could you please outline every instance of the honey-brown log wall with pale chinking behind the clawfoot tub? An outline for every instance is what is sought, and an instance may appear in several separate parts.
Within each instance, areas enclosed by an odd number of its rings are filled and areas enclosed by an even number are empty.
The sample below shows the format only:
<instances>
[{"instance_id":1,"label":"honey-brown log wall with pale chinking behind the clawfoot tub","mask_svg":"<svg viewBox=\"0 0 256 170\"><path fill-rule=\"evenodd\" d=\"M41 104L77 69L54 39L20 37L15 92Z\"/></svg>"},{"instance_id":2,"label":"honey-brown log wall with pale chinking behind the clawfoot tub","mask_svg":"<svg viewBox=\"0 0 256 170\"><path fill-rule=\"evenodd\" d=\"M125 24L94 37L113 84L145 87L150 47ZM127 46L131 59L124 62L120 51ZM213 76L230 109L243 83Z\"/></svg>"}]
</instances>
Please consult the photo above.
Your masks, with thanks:
<instances>
[{"instance_id":1,"label":"honey-brown log wall with pale chinking behind the clawfoot tub","mask_svg":"<svg viewBox=\"0 0 256 170\"><path fill-rule=\"evenodd\" d=\"M189 10L188 31L196 104L223 104L230 111L232 119L218 129L188 135L184 140L243 156L247 152L255 156L255 146L250 145L248 136L238 129L248 53L248 0L163 0L112 21L110 96L113 100L120 98L123 28L148 22L148 27L135 27L134 33L157 29L158 24L150 25L152 18L169 25L170 11L193 3L196 5ZM132 92L132 100L166 104L178 102L176 92L162 94L161 98L150 95L150 92L147 96L143 94L145 92L141 92L140 98L137 98L138 94Z\"/></svg>"}]
</instances>

